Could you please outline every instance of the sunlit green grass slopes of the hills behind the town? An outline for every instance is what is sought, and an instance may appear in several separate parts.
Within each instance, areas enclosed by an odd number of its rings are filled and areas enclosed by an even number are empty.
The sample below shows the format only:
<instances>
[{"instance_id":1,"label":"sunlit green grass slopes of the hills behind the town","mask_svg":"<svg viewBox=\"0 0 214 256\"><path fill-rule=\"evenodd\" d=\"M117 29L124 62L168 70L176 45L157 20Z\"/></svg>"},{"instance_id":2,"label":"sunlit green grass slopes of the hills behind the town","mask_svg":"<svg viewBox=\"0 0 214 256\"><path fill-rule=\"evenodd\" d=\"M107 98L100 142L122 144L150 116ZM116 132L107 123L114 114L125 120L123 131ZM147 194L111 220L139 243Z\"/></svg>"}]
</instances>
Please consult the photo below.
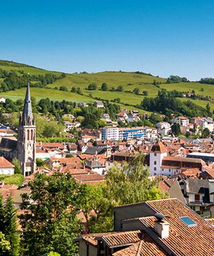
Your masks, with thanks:
<instances>
[{"instance_id":1,"label":"sunlit green grass slopes of the hills behind the town","mask_svg":"<svg viewBox=\"0 0 214 256\"><path fill-rule=\"evenodd\" d=\"M13 61L0 61L0 68L7 71L14 71L17 75L22 75L22 73L30 73L30 75L45 75L47 73L52 73L55 75L61 75L61 72L49 71L42 68L36 68L33 66L28 66L22 63L16 63ZM153 85L153 81L160 82L158 86ZM139 72L116 72L116 71L105 71L100 73L73 73L66 74L66 77L56 80L52 84L47 86L51 89L45 88L31 88L31 94L36 99L40 98L50 98L52 100L70 100L77 102L91 102L95 98L105 99L105 100L114 100L115 98L120 98L121 107L135 108L135 105L140 104L144 96L142 91L148 92L148 97L155 97L160 89L167 89L169 91L192 91L194 90L197 94L203 96L211 96L214 98L214 90L211 84L200 84L199 82L181 82L178 84L166 84L167 79L161 77L155 77L146 73ZM3 78L0 78L0 83L3 82ZM33 82L33 81L32 81ZM117 87L119 85L123 86L123 92L121 91L100 91L102 83L107 83L108 89L112 87ZM89 84L95 83L98 85L98 89L94 91L89 91L86 89ZM60 86L67 86L67 91L59 91ZM77 93L70 93L70 89L75 86L79 87L84 94L79 95ZM133 89L138 88L140 95L131 93ZM204 91L201 91L201 88ZM23 98L25 89L17 89L15 91L6 91L1 92L0 97L10 98L12 100L17 100L18 98ZM93 98L89 97L92 96ZM181 100L187 100L182 98ZM194 100L194 103L206 106L206 100ZM131 105L131 106L127 106ZM211 103L211 109L214 110L214 104Z\"/></svg>"}]
</instances>

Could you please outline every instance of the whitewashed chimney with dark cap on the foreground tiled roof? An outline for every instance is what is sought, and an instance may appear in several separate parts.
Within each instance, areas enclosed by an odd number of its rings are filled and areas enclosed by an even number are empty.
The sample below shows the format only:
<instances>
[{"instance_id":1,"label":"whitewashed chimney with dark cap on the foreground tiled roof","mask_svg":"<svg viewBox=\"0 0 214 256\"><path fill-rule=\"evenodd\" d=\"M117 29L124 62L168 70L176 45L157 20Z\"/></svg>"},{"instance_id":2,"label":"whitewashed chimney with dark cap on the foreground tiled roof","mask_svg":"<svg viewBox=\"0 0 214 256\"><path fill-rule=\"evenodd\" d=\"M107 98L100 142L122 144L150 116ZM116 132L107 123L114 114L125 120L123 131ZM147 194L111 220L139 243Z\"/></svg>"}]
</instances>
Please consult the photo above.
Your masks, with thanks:
<instances>
[{"instance_id":1,"label":"whitewashed chimney with dark cap on the foreground tiled roof","mask_svg":"<svg viewBox=\"0 0 214 256\"><path fill-rule=\"evenodd\" d=\"M161 239L167 239L169 236L169 223L163 220L165 216L161 213L155 213L157 220L155 221L155 232Z\"/></svg>"}]
</instances>

